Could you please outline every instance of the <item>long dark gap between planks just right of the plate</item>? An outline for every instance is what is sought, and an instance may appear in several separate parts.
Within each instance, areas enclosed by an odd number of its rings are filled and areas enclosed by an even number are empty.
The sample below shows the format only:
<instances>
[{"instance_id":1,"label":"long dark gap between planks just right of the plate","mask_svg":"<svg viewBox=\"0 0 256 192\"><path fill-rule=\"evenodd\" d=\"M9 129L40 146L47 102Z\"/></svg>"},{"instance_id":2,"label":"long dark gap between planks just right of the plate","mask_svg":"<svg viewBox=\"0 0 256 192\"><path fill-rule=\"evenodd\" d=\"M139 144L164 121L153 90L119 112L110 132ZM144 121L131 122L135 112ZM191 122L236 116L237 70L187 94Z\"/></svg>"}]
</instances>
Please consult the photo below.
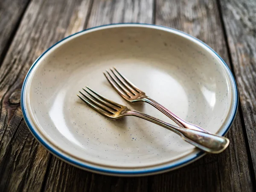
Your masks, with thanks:
<instances>
[{"instance_id":1,"label":"long dark gap between planks just right of the plate","mask_svg":"<svg viewBox=\"0 0 256 192\"><path fill-rule=\"evenodd\" d=\"M234 73L234 68L233 68L233 61L232 61L232 57L231 57L231 52L230 52L230 46L229 43L227 41L227 31L226 31L226 27L224 24L224 18L223 18L223 14L222 14L222 10L221 10L221 3L220 0L216 0L217 2L217 6L218 6L218 12L220 15L220 20L221 20L221 27L223 29L223 35L224 35L224 40L225 40L225 44L227 47L227 55L230 61L230 70L233 73L233 76L236 79L235 73ZM240 102L240 97L239 97L239 103ZM238 112L241 114L240 118L241 118L241 125L242 125L242 132L243 132L243 136L244 136L244 142L245 142L245 147L246 147L246 152L247 152L247 158L248 158L248 164L249 164L249 168L250 168L250 176L252 180L256 180L256 175L255 172L253 171L253 159L252 159L252 155L250 153L250 145L248 142L248 137L247 137L247 132L246 132L246 127L245 127L245 122L244 122L244 115L243 115L243 110L241 108L241 105L239 104L238 106ZM241 180L240 180L241 181ZM253 184L253 191L256 191L256 183L252 182Z\"/></svg>"}]
</instances>

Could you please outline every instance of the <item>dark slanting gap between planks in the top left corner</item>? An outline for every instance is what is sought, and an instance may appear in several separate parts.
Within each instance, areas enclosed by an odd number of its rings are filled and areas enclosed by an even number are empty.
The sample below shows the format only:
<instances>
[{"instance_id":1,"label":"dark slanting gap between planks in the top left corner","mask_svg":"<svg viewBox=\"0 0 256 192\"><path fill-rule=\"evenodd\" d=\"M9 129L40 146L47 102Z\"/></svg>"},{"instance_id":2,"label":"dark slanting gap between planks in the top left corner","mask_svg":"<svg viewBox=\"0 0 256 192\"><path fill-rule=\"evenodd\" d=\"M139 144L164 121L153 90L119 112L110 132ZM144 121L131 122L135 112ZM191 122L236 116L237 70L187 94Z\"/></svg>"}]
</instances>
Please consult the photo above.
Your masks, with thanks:
<instances>
[{"instance_id":1,"label":"dark slanting gap between planks in the top left corner","mask_svg":"<svg viewBox=\"0 0 256 192\"><path fill-rule=\"evenodd\" d=\"M5 56L6 56L7 51L9 50L9 47L10 47L11 44L12 44L12 40L14 39L14 37L15 37L15 35L16 35L16 32L17 32L17 30L18 30L18 28L19 28L19 26L20 26L20 23L21 23L21 20L23 19L23 16L24 16L25 13L26 13L26 10L27 10L27 8L28 8L28 6L29 6L30 1L31 1L31 0L29 0L29 1L26 3L25 9L24 9L23 12L21 13L20 18L18 19L18 21L17 21L17 23L16 23L16 25L15 25L15 27L14 27L14 30L12 31L12 34L10 35L10 38L9 38L8 41L7 41L6 46L3 48L3 52L2 52L2 54L0 55L0 67L1 67L1 65L2 65L2 63L3 63L3 60L4 60Z\"/></svg>"}]
</instances>

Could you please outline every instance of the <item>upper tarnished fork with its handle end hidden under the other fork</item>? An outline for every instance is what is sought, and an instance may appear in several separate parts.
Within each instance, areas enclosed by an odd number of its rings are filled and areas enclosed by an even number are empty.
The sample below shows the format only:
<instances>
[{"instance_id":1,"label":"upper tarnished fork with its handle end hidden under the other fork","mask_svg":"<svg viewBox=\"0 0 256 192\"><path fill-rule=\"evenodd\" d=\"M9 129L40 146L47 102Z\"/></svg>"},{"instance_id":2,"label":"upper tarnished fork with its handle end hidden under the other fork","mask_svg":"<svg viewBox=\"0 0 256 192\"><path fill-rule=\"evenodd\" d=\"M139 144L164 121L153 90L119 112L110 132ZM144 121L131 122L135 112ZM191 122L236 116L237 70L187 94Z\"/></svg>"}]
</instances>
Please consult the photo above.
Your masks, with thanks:
<instances>
[{"instance_id":1,"label":"upper tarnished fork with its handle end hidden under the other fork","mask_svg":"<svg viewBox=\"0 0 256 192\"><path fill-rule=\"evenodd\" d=\"M160 105L154 99L151 99L149 96L136 87L131 81L129 81L125 76L123 76L115 67L110 69L112 73L109 73L108 70L103 72L105 77L108 79L109 83L112 87L128 102L147 102L150 105L157 108L159 111L164 113L166 116L171 118L177 125L183 128L189 128L196 131L202 131L205 133L209 133L208 131L204 130L203 128L199 127L198 125L194 125L192 123L186 122L185 120L181 119L172 111L169 111L163 105Z\"/></svg>"}]
</instances>

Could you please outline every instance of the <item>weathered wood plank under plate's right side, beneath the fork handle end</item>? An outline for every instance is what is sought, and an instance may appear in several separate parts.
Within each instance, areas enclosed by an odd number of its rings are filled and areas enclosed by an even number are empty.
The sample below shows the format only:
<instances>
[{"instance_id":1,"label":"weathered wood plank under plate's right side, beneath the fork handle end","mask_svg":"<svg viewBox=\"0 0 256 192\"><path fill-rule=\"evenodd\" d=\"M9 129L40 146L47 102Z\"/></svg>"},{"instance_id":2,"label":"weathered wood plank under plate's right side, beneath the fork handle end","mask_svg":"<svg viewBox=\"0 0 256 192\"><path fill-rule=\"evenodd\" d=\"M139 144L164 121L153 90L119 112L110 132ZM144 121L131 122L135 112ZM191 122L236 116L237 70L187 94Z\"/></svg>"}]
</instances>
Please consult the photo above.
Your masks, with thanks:
<instances>
[{"instance_id":1,"label":"weathered wood plank under plate's right side, beneath the fork handle end","mask_svg":"<svg viewBox=\"0 0 256 192\"><path fill-rule=\"evenodd\" d=\"M172 10L172 11L170 11ZM157 0L156 24L185 31L215 49L229 64L216 2L211 0ZM152 177L152 191L252 191L240 114L227 134L230 146L175 172ZM161 190L164 183L169 183Z\"/></svg>"}]
</instances>

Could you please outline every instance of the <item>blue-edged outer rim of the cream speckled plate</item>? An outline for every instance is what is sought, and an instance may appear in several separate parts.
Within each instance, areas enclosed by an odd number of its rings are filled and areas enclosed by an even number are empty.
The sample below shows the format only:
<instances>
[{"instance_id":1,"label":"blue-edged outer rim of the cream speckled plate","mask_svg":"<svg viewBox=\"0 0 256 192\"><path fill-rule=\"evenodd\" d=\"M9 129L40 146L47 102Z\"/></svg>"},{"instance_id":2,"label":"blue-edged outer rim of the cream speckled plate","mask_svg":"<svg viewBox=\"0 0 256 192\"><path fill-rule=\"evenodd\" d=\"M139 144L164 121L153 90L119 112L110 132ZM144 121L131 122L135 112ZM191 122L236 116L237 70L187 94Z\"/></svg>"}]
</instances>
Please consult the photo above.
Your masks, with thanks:
<instances>
[{"instance_id":1,"label":"blue-edged outer rim of the cream speckled plate","mask_svg":"<svg viewBox=\"0 0 256 192\"><path fill-rule=\"evenodd\" d=\"M24 96L24 89L25 89L25 85L26 85L26 82L27 82L27 79L29 77L29 74L30 72L32 71L32 69L35 67L35 65L38 63L39 59L45 55L50 49L52 49L53 47L55 47L57 44L61 43L62 41L70 38L70 37L73 37L74 35L77 35L77 34L80 34L82 32L85 32L85 31L89 31L89 30L92 30L92 29L96 29L96 28L101 28L101 27L105 27L105 26L117 26L117 25L122 25L122 26L129 26L129 25L133 25L133 26L157 26L158 28L163 28L163 29L169 29L169 30L172 30L172 31L176 31L176 32L179 32L179 33L182 33L183 35L186 35L190 38L193 38L194 40L198 41L199 43L203 44L204 46L208 47L219 59L221 59L221 61L223 62L224 66L227 68L227 71L230 73L230 76L232 77L232 80L233 80L233 84L234 84L234 87L235 87L235 98L234 98L234 101L235 101L235 107L234 107L234 110L231 112L233 113L233 117L232 119L230 120L229 124L226 126L225 128L225 131L224 133L222 134L222 136L224 136L225 134L227 134L227 131L229 131L234 119L235 119L235 116L236 116L236 112L237 112L237 109L238 109L238 88L237 88L237 84L236 84L236 79L235 77L233 76L233 73L231 72L230 68L228 67L228 65L225 63L225 61L221 58L220 55L218 55L217 52L215 52L211 47L209 47L207 44L205 44L203 41L199 40L198 38L195 38L193 37L192 35L189 35L185 32L182 32L180 30L177 30L177 29L173 29L171 27L167 27L167 26L160 26L160 25L154 25L154 24L147 24L147 23L113 23L113 24L108 24L108 25L101 25L101 26L96 26L96 27L92 27L92 28L89 28L89 29L84 29L80 32L76 32L72 35L69 35L67 36L66 38L63 38L61 39L60 41L58 41L57 43L53 44L51 47L49 47L46 51L44 51L36 60L35 62L32 64L32 66L30 67L24 81L23 81L23 85L22 85L22 89L21 89L21 98L20 98L20 105L21 105L21 109L22 109L22 113L23 113L23 117L25 119L25 122L26 122L26 125L28 126L29 130L32 132L32 134L34 135L34 137L38 140L39 143L41 143L41 145L43 145L48 151L50 151L52 154L54 154L56 157L59 157L60 159L74 165L74 166L78 166L82 169L87 169L87 170L91 170L93 172L98 172L98 173L105 173L105 174L113 174L113 175L145 175L145 174L153 174L153 173L157 173L157 172L164 172L164 171L168 171L168 170L171 170L171 169L175 169L175 168L179 168L181 166L185 166L186 164L188 163L191 163L195 160L197 160L198 158L202 157L205 152L204 151L199 151L197 154L195 154L193 157L190 157L188 159L185 159L183 161L180 161L178 163L174 163L174 164L171 164L171 165L167 165L167 166L163 166L163 167L160 167L160 168L145 168L145 170L139 170L139 171L118 171L118 170L111 170L111 169L108 169L108 168L98 168L98 167L95 167L95 166L91 166L91 165L87 165L86 163L80 163L76 160L73 160L71 159L70 157L68 157L68 155L63 155L61 154L60 152L58 152L57 150L55 150L55 148L53 148L52 146L50 146L49 144L47 144L39 135L38 133L35 131L35 129L33 128L31 122L29 122L29 118L28 118L28 115L26 113L26 109L25 109L25 106L24 106L24 100L25 100L25 96Z\"/></svg>"}]
</instances>

